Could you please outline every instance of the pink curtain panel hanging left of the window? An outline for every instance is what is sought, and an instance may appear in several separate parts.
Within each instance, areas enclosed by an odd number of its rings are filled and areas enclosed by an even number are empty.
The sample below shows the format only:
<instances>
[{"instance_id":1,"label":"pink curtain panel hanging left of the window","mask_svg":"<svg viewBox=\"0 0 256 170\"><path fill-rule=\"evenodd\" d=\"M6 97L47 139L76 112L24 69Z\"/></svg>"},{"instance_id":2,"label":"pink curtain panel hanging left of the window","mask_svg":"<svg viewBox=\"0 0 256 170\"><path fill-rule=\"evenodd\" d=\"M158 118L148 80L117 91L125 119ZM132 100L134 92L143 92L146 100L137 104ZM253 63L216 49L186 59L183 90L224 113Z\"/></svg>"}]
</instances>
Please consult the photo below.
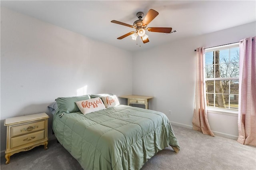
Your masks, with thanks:
<instances>
[{"instance_id":1,"label":"pink curtain panel hanging left of the window","mask_svg":"<svg viewBox=\"0 0 256 170\"><path fill-rule=\"evenodd\" d=\"M204 47L200 47L196 49L196 94L192 124L194 130L214 136L208 123L204 79Z\"/></svg>"}]
</instances>

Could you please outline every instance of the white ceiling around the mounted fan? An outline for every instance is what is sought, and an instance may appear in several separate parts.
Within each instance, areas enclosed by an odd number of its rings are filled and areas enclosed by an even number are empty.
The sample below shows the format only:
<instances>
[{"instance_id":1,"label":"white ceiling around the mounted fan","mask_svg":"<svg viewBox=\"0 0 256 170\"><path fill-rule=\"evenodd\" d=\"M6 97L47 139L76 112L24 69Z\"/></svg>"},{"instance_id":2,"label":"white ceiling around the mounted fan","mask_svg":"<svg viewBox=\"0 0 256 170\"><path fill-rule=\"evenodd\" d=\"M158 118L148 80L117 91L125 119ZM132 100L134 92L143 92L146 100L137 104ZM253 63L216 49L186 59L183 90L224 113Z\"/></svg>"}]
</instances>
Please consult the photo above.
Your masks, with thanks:
<instances>
[{"instance_id":1,"label":"white ceiling around the mounted fan","mask_svg":"<svg viewBox=\"0 0 256 170\"><path fill-rule=\"evenodd\" d=\"M164 0L164 1L0 1L1 6L60 26L86 37L128 51L148 49L180 39L216 32L256 21L256 1ZM134 28L111 23L117 20L133 25L136 13L149 9L159 15L148 27L172 27L176 33L146 32L150 42L143 44L130 36L117 40ZM144 17L143 17L144 18ZM142 18L142 19L143 19Z\"/></svg>"}]
</instances>

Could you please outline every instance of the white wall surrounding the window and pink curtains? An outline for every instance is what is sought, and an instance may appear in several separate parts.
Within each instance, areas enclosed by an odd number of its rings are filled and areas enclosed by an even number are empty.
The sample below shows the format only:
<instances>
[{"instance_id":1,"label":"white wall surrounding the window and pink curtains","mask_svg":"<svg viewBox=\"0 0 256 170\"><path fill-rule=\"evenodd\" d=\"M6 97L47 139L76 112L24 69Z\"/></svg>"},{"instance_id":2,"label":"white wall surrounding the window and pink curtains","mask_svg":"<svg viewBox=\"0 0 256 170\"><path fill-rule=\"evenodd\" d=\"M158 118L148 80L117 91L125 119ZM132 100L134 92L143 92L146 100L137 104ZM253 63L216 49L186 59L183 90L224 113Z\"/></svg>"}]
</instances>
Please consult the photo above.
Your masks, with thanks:
<instances>
[{"instance_id":1,"label":"white wall surrounding the window and pink curtains","mask_svg":"<svg viewBox=\"0 0 256 170\"><path fill-rule=\"evenodd\" d=\"M177 32L175 34L182 34ZM134 95L154 96L149 109L165 113L173 124L192 128L197 47L212 47L255 36L256 23L187 38L133 56ZM169 115L168 111L172 111ZM237 117L209 113L211 129L218 135L238 136Z\"/></svg>"}]
</instances>

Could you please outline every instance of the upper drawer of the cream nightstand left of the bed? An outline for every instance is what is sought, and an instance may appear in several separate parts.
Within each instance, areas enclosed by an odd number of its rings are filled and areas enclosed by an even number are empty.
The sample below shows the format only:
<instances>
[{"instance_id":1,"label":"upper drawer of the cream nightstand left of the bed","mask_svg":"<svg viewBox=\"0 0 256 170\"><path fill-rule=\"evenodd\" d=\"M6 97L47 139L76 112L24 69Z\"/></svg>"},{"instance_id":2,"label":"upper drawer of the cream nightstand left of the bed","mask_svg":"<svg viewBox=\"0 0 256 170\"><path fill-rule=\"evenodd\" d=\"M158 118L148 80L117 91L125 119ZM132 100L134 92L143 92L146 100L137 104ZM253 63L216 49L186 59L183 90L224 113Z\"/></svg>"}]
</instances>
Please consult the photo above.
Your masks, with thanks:
<instances>
[{"instance_id":1,"label":"upper drawer of the cream nightstand left of the bed","mask_svg":"<svg viewBox=\"0 0 256 170\"><path fill-rule=\"evenodd\" d=\"M22 134L43 130L43 129L45 129L45 121L28 123L26 125L11 127L11 138L22 135Z\"/></svg>"}]
</instances>

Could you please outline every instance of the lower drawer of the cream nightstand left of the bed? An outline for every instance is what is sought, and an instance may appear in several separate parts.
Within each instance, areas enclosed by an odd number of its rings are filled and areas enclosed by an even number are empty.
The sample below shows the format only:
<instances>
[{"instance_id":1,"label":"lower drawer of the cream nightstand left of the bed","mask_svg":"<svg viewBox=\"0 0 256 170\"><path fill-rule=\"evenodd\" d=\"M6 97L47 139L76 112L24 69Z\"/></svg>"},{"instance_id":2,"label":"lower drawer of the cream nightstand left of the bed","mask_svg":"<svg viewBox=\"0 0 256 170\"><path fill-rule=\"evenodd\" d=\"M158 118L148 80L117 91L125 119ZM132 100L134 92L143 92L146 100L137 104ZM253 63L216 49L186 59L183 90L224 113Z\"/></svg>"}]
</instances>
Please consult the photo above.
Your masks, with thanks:
<instances>
[{"instance_id":1,"label":"lower drawer of the cream nightstand left of the bed","mask_svg":"<svg viewBox=\"0 0 256 170\"><path fill-rule=\"evenodd\" d=\"M18 136L15 138L11 138L11 148L15 148L18 146L22 146L24 144L28 144L31 142L35 142L37 140L44 139L45 138L44 134L45 134L45 130L41 130L39 132L34 132L34 133Z\"/></svg>"}]
</instances>

